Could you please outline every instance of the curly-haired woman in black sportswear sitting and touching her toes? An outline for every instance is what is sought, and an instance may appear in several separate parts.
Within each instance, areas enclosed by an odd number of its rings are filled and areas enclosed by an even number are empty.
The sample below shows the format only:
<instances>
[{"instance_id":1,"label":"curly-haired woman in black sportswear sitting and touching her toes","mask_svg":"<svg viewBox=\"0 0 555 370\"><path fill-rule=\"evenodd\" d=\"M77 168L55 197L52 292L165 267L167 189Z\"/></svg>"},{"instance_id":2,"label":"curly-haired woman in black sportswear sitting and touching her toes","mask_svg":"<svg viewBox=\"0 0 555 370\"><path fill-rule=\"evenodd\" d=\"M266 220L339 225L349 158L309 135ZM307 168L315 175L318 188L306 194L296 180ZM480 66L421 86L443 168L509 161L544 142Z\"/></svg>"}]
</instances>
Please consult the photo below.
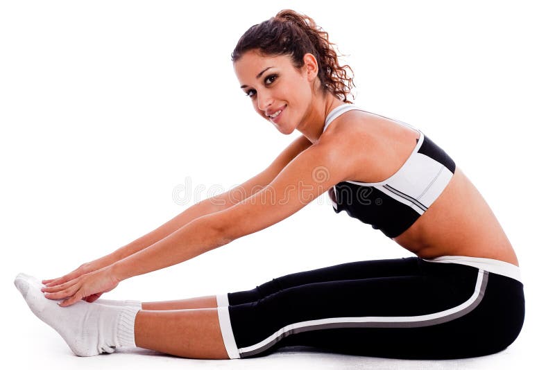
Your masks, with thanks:
<instances>
[{"instance_id":1,"label":"curly-haired woman in black sportswear sitting and touching her toes","mask_svg":"<svg viewBox=\"0 0 555 370\"><path fill-rule=\"evenodd\" d=\"M331 45L311 18L292 10L239 39L232 61L255 111L282 134L302 133L262 173L46 286L17 276L28 306L74 353L139 346L227 359L307 345L441 359L496 353L515 340L524 294L495 215L423 132L351 104L348 66L339 66ZM345 210L416 256L323 267L180 301L98 299L123 279L280 222L326 191L336 213Z\"/></svg>"}]
</instances>

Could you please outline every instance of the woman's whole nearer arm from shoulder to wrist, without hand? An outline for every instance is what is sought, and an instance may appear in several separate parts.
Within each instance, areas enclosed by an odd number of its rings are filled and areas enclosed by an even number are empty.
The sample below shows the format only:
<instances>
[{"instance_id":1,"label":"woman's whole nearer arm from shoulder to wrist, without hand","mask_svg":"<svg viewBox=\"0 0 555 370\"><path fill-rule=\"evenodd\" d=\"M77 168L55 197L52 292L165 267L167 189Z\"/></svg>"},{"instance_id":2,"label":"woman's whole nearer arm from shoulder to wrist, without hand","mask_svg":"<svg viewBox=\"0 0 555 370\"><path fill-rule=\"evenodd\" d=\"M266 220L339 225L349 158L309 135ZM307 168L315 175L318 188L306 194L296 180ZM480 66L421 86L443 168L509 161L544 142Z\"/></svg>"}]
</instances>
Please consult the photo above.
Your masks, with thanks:
<instances>
[{"instance_id":1,"label":"woman's whole nearer arm from shoulder to wrist, without hand","mask_svg":"<svg viewBox=\"0 0 555 370\"><path fill-rule=\"evenodd\" d=\"M189 222L167 238L123 258L110 266L111 274L121 281L160 270L280 222L348 178L350 166L344 159L343 149L315 144L293 159L261 191ZM315 174L316 171L320 173Z\"/></svg>"}]
</instances>

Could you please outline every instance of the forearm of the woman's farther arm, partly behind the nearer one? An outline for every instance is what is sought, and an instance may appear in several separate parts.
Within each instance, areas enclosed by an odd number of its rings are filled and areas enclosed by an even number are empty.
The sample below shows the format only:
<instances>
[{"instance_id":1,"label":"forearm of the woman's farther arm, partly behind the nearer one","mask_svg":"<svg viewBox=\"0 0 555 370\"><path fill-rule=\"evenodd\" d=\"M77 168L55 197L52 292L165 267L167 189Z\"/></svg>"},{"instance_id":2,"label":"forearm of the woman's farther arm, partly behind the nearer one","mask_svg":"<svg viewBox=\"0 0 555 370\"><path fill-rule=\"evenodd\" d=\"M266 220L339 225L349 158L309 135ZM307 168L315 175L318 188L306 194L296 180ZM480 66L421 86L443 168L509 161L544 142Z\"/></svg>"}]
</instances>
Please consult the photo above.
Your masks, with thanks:
<instances>
[{"instance_id":1,"label":"forearm of the woman's farther arm, partly behind the nearer one","mask_svg":"<svg viewBox=\"0 0 555 370\"><path fill-rule=\"evenodd\" d=\"M127 256L135 254L142 249L149 247L150 245L153 245L157 241L166 238L167 236L178 230L180 227L183 227L185 224L188 224L192 220L216 211L219 211L219 208L216 207L213 202L210 202L210 200L203 200L202 202L198 202L190 206L188 209L186 209L176 217L172 218L165 224L162 224L162 226L158 227L157 229L138 238L137 240L134 240L128 245L124 245L108 256L103 257L103 259L105 259L106 266L120 261Z\"/></svg>"}]
</instances>

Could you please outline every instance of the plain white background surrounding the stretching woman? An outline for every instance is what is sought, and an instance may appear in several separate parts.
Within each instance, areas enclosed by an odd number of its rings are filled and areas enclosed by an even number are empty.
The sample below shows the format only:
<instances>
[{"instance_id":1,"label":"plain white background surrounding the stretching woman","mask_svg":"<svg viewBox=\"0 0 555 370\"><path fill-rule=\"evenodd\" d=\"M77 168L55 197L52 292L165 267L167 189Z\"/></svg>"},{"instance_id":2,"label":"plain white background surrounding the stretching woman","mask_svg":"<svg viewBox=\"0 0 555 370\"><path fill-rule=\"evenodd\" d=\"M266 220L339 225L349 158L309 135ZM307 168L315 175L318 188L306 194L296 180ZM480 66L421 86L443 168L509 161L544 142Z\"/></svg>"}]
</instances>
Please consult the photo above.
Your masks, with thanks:
<instances>
[{"instance_id":1,"label":"plain white background surrounding the stretching woman","mask_svg":"<svg viewBox=\"0 0 555 370\"><path fill-rule=\"evenodd\" d=\"M56 277L112 252L259 173L299 135L280 134L257 116L230 62L244 31L283 8L330 33L355 71L355 104L420 128L470 177L518 254L527 316L515 343L486 358L402 362L290 351L240 366L520 369L549 351L555 27L548 1L20 0L0 1L1 341L12 367L239 367L139 350L76 358L12 281L18 272ZM178 202L173 192L184 185L190 199ZM336 215L324 194L273 227L123 281L104 297L196 297L411 255Z\"/></svg>"}]
</instances>

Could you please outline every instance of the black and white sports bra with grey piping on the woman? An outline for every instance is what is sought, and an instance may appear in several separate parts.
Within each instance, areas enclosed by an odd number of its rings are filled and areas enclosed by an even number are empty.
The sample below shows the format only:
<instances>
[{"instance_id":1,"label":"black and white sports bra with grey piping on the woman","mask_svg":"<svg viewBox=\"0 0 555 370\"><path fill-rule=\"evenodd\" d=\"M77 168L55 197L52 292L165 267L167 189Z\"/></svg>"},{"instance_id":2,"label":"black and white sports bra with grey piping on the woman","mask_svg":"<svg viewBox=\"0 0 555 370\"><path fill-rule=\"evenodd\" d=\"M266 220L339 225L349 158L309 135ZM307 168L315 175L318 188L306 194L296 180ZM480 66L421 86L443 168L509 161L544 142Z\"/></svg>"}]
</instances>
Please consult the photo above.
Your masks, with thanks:
<instances>
[{"instance_id":1,"label":"black and white sports bra with grey piping on the woman","mask_svg":"<svg viewBox=\"0 0 555 370\"><path fill-rule=\"evenodd\" d=\"M324 131L335 118L350 110L368 112L349 103L340 105L327 115ZM381 117L420 133L407 161L382 182L343 181L330 188L328 195L335 213L345 211L350 217L379 229L388 238L395 238L409 229L443 192L455 172L455 163L418 128Z\"/></svg>"}]
</instances>

